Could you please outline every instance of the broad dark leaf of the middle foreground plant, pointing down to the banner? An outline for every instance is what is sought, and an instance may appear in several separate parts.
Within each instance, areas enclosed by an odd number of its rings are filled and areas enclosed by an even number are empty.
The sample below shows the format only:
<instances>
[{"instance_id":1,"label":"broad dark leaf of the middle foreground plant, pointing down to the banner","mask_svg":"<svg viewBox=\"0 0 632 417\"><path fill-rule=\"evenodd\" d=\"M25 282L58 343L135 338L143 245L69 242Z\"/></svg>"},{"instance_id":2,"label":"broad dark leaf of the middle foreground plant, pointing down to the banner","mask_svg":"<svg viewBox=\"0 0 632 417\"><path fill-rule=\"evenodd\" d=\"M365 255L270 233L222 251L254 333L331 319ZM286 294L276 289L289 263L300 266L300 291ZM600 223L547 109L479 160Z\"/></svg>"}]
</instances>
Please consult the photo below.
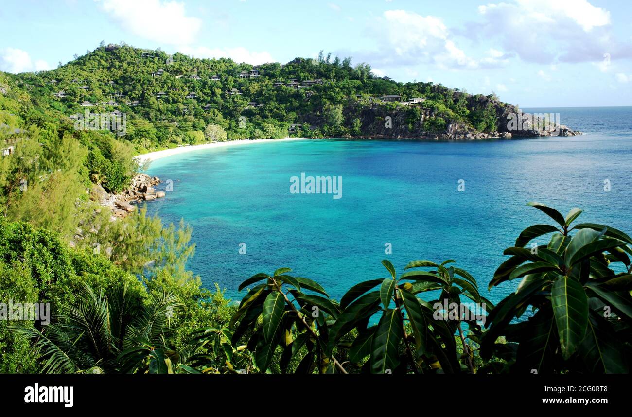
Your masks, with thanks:
<instances>
[{"instance_id":1,"label":"broad dark leaf of the middle foreground plant, pointing down to the banner","mask_svg":"<svg viewBox=\"0 0 632 417\"><path fill-rule=\"evenodd\" d=\"M399 365L399 342L402 336L402 318L399 310L384 311L371 344L372 373L394 372Z\"/></svg>"}]
</instances>

